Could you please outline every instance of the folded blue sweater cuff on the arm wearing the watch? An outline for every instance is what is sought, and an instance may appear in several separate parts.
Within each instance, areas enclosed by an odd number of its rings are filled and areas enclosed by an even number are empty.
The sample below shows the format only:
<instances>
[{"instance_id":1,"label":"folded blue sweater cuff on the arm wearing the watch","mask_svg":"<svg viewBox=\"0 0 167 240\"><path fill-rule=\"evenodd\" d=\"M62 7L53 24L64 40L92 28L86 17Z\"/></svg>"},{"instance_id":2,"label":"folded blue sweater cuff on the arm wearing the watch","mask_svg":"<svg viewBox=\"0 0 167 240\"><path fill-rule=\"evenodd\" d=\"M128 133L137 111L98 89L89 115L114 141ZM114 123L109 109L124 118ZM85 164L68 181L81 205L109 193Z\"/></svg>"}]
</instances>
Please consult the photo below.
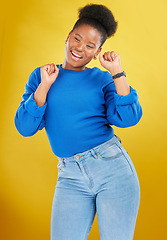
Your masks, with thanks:
<instances>
[{"instance_id":1,"label":"folded blue sweater cuff on the arm wearing the watch","mask_svg":"<svg viewBox=\"0 0 167 240\"><path fill-rule=\"evenodd\" d=\"M119 95L114 93L116 105L130 105L138 100L137 91L130 86L130 93L128 95Z\"/></svg>"}]
</instances>

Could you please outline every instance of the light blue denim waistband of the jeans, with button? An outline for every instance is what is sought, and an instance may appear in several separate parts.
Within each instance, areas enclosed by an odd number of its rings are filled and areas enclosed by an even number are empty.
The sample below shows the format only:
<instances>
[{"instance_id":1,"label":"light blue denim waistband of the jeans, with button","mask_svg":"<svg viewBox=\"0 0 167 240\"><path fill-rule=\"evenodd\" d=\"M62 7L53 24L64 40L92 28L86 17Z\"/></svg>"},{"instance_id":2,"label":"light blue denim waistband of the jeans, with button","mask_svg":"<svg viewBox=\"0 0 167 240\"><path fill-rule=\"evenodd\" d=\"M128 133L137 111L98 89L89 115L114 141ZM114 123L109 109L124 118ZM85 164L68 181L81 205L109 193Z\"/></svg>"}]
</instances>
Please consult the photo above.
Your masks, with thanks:
<instances>
[{"instance_id":1,"label":"light blue denim waistband of the jeans, with button","mask_svg":"<svg viewBox=\"0 0 167 240\"><path fill-rule=\"evenodd\" d=\"M83 158L87 158L89 157L90 155L93 155L95 158L97 158L98 156L98 152L101 151L102 149L104 150L105 148L107 148L109 145L112 145L114 143L118 143L118 144L121 144L121 139L114 134L114 136L112 138L110 138L109 140L107 140L106 142L94 147L94 148L91 148L87 151L84 151L84 152L81 152L81 153L77 153L77 154L74 154L73 156L71 157L58 157L58 160L61 161L61 162L72 162L72 161L81 161Z\"/></svg>"}]
</instances>

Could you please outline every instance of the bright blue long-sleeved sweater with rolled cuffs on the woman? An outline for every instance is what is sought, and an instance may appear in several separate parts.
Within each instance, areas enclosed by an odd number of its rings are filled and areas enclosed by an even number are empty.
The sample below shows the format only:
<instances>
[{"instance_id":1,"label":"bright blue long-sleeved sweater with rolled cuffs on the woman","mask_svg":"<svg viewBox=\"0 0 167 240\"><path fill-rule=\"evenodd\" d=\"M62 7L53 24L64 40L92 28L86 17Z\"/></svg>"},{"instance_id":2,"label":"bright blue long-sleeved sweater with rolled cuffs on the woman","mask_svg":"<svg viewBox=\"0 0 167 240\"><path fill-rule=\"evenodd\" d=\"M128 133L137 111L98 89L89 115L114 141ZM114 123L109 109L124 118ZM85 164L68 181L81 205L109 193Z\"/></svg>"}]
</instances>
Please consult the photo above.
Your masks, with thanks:
<instances>
[{"instance_id":1,"label":"bright blue long-sleeved sweater with rolled cuffs on the woman","mask_svg":"<svg viewBox=\"0 0 167 240\"><path fill-rule=\"evenodd\" d=\"M57 66L59 75L42 107L33 98L41 82L40 67L30 74L15 115L21 135L32 136L45 127L53 153L71 157L112 138L111 125L125 128L139 122L142 108L131 86L128 95L118 95L107 71L97 67L73 71Z\"/></svg>"}]
</instances>

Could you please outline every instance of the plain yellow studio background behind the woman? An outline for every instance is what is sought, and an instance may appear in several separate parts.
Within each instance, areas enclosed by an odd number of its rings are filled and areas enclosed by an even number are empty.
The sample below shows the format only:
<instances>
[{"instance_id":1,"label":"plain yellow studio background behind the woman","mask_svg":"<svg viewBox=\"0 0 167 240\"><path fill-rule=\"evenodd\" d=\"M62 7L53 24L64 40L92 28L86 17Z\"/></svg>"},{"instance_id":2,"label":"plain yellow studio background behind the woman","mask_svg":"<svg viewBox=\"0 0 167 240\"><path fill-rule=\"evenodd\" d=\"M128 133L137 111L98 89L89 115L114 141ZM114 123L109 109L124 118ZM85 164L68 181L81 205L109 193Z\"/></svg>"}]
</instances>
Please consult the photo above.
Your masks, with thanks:
<instances>
[{"instance_id":1,"label":"plain yellow studio background behind the woman","mask_svg":"<svg viewBox=\"0 0 167 240\"><path fill-rule=\"evenodd\" d=\"M91 1L108 6L118 20L103 52L121 56L129 84L139 94L138 125L114 127L138 173L141 202L135 240L166 239L167 157L167 1ZM4 1L0 14L0 214L3 240L49 240L58 160L45 130L24 138L14 115L30 73L64 60L65 39L77 9L89 1ZM100 67L92 60L90 67ZM100 67L101 68L101 67ZM102 69L102 68L101 68ZM99 240L97 217L89 240Z\"/></svg>"}]
</instances>

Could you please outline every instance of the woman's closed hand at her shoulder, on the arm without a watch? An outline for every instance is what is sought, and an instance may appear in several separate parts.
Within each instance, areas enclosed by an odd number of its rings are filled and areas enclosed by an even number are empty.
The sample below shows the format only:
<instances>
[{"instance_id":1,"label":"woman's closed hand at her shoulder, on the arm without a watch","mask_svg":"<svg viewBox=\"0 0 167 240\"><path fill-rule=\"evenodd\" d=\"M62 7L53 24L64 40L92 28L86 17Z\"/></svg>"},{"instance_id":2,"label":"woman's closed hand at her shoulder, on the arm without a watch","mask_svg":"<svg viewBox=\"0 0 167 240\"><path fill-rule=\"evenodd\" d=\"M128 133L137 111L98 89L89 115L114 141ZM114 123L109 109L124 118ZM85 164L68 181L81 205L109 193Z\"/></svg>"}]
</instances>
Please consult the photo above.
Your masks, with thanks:
<instances>
[{"instance_id":1,"label":"woman's closed hand at her shoulder, on the arm without a watch","mask_svg":"<svg viewBox=\"0 0 167 240\"><path fill-rule=\"evenodd\" d=\"M51 87L59 74L59 68L51 63L41 67L41 84Z\"/></svg>"}]
</instances>

